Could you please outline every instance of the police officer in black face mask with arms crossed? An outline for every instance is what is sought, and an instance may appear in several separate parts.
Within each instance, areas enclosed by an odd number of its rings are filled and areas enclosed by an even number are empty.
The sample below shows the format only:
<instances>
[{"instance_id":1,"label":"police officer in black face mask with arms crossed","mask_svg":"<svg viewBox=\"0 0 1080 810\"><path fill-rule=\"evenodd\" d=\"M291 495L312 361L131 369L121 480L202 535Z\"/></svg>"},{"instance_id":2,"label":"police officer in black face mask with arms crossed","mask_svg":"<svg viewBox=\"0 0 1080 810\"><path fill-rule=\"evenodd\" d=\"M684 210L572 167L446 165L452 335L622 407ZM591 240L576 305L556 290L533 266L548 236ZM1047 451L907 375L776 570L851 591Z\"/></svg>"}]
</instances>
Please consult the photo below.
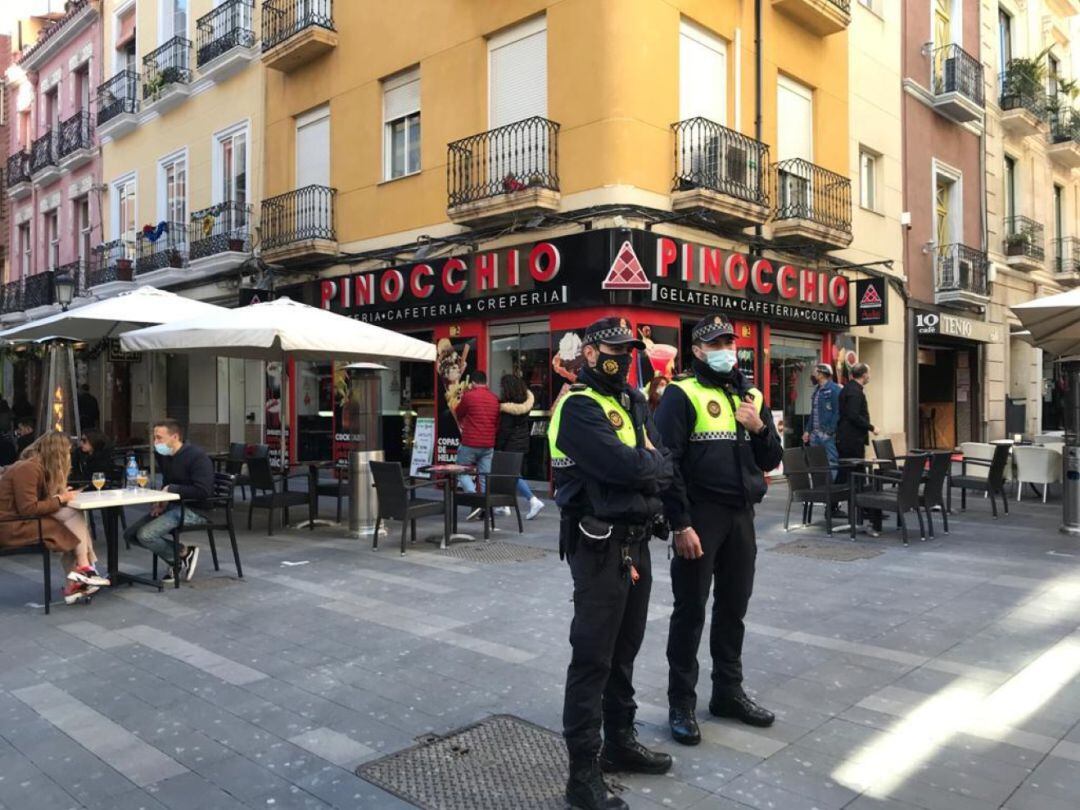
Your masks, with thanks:
<instances>
[{"instance_id":1,"label":"police officer in black face mask with arms crossed","mask_svg":"<svg viewBox=\"0 0 1080 810\"><path fill-rule=\"evenodd\" d=\"M573 576L566 800L579 810L619 809L626 804L610 793L600 768L664 773L672 765L637 741L632 683L652 585L648 541L672 467L645 397L626 383L631 349L645 345L617 318L596 321L582 340L578 383L555 405L548 429L559 554Z\"/></svg>"}]
</instances>

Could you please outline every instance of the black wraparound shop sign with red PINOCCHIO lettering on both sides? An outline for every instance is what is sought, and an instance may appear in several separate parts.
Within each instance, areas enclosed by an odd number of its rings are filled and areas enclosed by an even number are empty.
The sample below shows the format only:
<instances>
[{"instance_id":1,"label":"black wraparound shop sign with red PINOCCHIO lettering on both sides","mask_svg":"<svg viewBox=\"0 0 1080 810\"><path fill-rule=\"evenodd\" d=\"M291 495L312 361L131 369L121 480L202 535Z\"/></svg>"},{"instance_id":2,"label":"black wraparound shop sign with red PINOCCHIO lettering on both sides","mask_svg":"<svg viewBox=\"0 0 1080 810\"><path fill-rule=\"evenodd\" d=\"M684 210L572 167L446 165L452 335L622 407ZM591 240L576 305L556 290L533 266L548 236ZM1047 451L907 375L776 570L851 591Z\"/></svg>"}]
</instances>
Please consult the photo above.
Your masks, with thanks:
<instances>
[{"instance_id":1,"label":"black wraparound shop sign with red PINOCCHIO lettering on both sides","mask_svg":"<svg viewBox=\"0 0 1080 810\"><path fill-rule=\"evenodd\" d=\"M586 231L314 285L309 301L373 323L612 303L848 323L843 276L646 231Z\"/></svg>"}]
</instances>

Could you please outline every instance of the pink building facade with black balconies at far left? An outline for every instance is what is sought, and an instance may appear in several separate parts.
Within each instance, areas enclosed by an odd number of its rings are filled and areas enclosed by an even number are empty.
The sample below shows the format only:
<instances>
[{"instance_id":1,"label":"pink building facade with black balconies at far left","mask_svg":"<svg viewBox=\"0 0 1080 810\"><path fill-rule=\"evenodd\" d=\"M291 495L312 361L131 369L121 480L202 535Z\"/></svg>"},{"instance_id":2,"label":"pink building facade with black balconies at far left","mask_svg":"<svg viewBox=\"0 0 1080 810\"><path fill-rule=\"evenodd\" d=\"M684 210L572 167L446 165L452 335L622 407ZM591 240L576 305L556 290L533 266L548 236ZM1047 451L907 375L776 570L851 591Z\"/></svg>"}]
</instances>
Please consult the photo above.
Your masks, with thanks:
<instances>
[{"instance_id":1,"label":"pink building facade with black balconies at far left","mask_svg":"<svg viewBox=\"0 0 1080 810\"><path fill-rule=\"evenodd\" d=\"M93 102L102 82L99 3L72 2L6 70L8 279L4 320L51 307L54 279L92 284L102 243L100 150Z\"/></svg>"}]
</instances>

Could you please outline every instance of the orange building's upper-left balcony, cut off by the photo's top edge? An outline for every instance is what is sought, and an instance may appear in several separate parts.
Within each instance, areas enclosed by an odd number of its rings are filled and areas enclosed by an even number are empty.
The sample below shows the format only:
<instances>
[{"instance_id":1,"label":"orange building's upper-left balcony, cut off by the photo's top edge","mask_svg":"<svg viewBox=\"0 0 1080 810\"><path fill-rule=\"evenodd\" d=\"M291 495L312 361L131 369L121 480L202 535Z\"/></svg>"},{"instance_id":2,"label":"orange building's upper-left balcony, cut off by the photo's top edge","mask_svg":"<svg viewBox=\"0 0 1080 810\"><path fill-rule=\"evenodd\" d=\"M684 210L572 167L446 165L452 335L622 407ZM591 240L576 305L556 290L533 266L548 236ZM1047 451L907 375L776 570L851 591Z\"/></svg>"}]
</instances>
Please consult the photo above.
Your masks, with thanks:
<instances>
[{"instance_id":1,"label":"orange building's upper-left balcony, cut off by the photo's top edge","mask_svg":"<svg viewBox=\"0 0 1080 810\"><path fill-rule=\"evenodd\" d=\"M288 73L337 48L334 0L265 0L262 64Z\"/></svg>"}]
</instances>

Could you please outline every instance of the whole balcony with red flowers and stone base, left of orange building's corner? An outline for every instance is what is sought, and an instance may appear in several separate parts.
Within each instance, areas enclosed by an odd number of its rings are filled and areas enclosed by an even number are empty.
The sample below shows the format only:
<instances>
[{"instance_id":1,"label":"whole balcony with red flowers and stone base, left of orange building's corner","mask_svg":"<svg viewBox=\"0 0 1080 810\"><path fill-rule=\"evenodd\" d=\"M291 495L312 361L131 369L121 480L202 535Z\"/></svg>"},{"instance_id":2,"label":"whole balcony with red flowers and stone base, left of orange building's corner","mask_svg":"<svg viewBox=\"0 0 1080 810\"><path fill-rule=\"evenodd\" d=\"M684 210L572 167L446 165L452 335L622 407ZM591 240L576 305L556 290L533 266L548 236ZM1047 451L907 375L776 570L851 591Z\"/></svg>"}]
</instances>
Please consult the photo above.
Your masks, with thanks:
<instances>
[{"instance_id":1,"label":"whole balcony with red flowers and stone base, left of orange building's corner","mask_svg":"<svg viewBox=\"0 0 1080 810\"><path fill-rule=\"evenodd\" d=\"M557 211L558 130L537 116L447 145L450 221L477 225Z\"/></svg>"}]
</instances>

